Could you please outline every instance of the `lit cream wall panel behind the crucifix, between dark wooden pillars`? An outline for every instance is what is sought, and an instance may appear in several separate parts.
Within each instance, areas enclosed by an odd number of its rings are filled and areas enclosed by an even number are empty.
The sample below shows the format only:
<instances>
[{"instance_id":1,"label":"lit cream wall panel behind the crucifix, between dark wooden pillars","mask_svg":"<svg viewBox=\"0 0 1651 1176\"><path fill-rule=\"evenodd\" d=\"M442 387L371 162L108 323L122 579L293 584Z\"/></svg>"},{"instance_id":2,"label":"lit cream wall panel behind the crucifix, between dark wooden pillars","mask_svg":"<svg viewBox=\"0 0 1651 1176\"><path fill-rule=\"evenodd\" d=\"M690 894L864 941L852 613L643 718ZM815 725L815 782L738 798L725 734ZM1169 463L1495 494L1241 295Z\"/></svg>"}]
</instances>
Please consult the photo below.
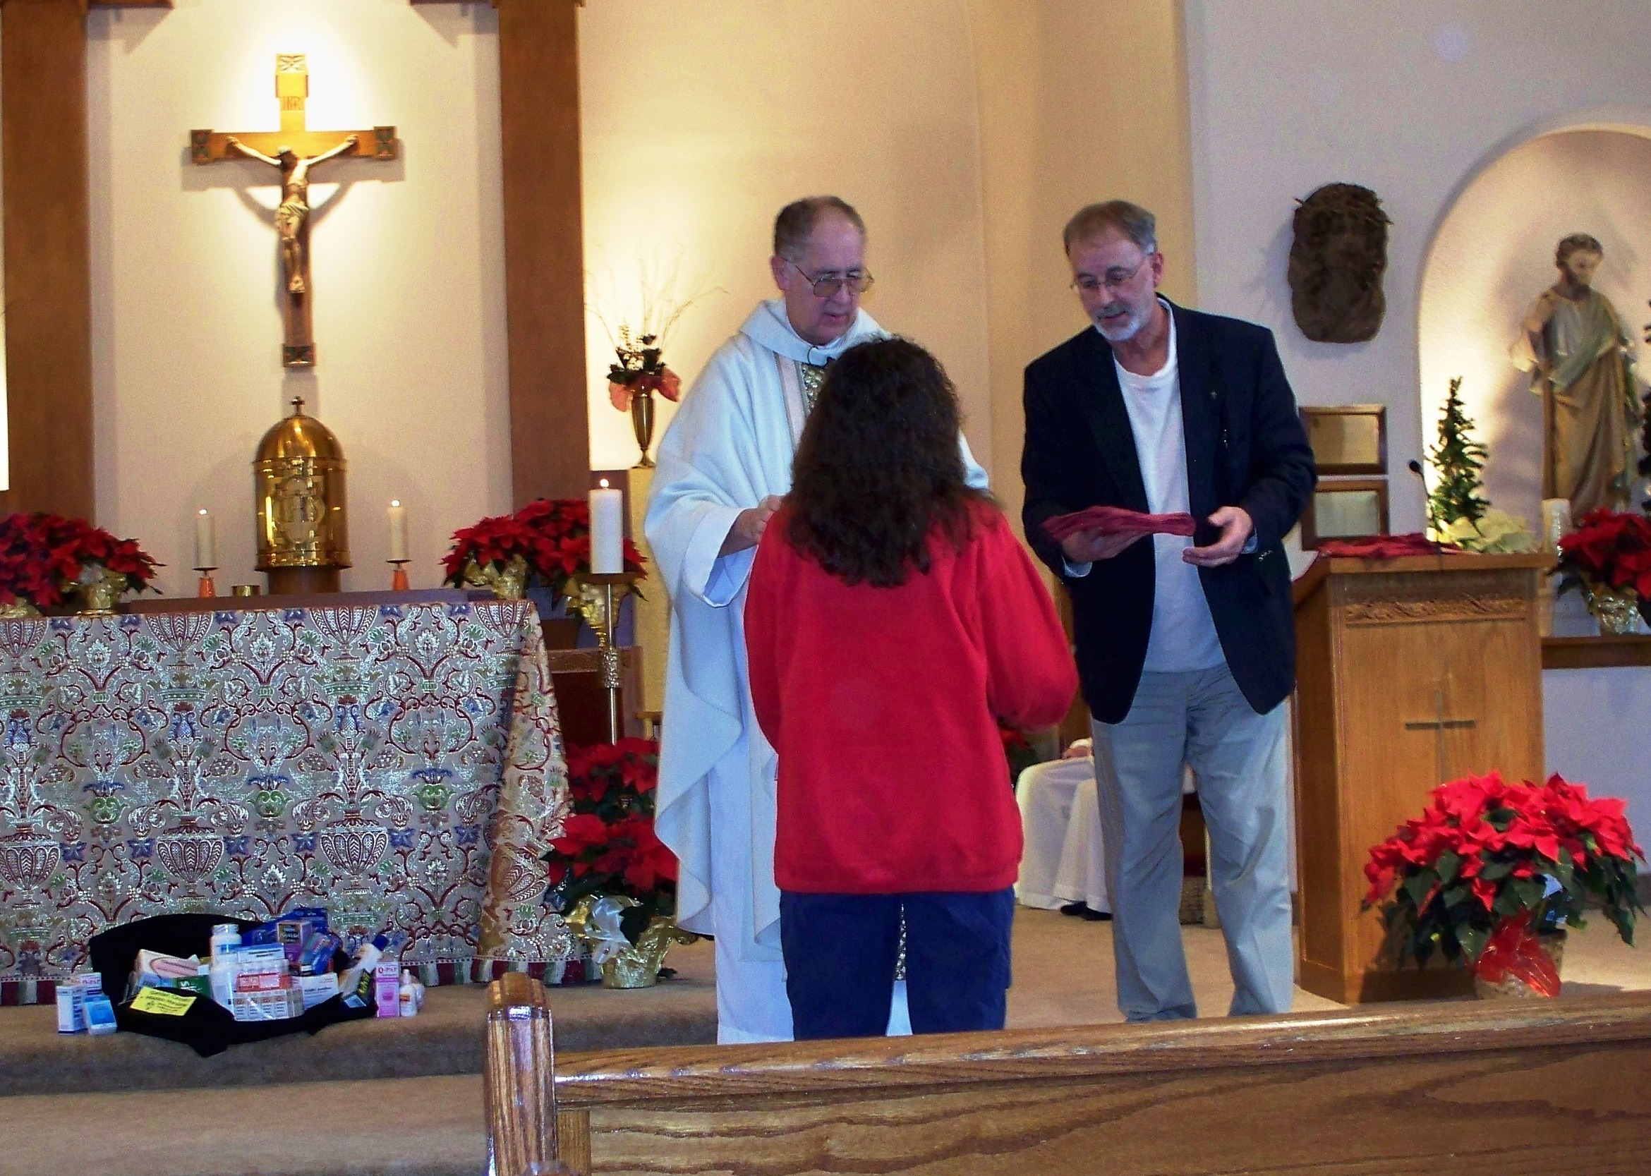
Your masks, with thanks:
<instances>
[{"instance_id":1,"label":"lit cream wall panel behind the crucifix, between dark wooden pillars","mask_svg":"<svg viewBox=\"0 0 1651 1176\"><path fill-rule=\"evenodd\" d=\"M408 505L414 586L447 535L510 505L495 17L484 3L177 0L89 20L97 517L193 591L193 514L253 573L251 461L302 393L350 461L347 588L388 586ZM277 127L276 53L307 53L309 126L398 127L395 164L319 170L319 367L281 368L274 170L195 167L188 130Z\"/></svg>"}]
</instances>

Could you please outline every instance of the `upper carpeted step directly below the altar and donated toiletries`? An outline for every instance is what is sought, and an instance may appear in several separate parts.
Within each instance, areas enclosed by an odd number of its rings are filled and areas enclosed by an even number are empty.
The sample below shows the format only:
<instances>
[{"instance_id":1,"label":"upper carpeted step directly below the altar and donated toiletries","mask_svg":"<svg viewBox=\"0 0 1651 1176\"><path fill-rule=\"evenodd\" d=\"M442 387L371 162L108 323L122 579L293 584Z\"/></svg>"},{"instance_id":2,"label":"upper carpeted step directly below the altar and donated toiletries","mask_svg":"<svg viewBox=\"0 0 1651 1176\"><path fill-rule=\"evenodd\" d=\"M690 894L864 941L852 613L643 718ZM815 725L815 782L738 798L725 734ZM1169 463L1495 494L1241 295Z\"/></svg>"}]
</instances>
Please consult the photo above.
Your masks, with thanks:
<instances>
[{"instance_id":1,"label":"upper carpeted step directly below the altar and donated toiletries","mask_svg":"<svg viewBox=\"0 0 1651 1176\"><path fill-rule=\"evenodd\" d=\"M556 1047L715 1042L712 945L674 948L670 963L680 970L677 979L657 988L551 988ZM140 1034L59 1034L54 1008L8 1008L0 1009L0 1098L480 1074L485 1011L485 986L433 988L411 1019L350 1021L314 1037L292 1034L198 1057L187 1046Z\"/></svg>"}]
</instances>

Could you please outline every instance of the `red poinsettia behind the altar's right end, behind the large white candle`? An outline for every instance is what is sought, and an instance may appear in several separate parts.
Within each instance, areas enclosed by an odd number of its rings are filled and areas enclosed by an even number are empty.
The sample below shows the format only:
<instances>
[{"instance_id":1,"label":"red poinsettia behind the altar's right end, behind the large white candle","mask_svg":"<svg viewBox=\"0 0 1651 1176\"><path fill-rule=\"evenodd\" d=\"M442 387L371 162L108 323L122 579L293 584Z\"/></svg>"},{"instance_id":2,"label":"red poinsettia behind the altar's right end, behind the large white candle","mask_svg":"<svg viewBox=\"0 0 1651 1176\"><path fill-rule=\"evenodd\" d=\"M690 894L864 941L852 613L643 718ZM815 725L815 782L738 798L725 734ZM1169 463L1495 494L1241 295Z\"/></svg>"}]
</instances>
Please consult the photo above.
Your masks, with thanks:
<instances>
[{"instance_id":1,"label":"red poinsettia behind the altar's right end, behind the large white candle","mask_svg":"<svg viewBox=\"0 0 1651 1176\"><path fill-rule=\"evenodd\" d=\"M520 558L551 593L566 595L568 576L591 567L589 502L538 499L515 514L482 519L452 533L452 547L441 563L446 583L462 586L472 562L480 568L500 568L513 558ZM624 567L637 580L647 578L646 560L629 538L624 540Z\"/></svg>"}]
</instances>

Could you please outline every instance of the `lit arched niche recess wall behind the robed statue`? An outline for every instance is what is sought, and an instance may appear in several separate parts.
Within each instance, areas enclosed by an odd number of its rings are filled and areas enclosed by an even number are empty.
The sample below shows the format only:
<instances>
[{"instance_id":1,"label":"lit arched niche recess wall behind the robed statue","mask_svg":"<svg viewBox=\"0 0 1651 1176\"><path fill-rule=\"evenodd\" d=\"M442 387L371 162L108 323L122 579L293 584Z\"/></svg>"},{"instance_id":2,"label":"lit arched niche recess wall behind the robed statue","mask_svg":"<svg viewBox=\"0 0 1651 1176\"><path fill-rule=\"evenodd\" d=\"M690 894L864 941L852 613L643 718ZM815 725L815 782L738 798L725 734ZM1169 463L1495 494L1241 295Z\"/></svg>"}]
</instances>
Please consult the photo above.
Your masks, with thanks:
<instances>
[{"instance_id":1,"label":"lit arched niche recess wall behind the robed statue","mask_svg":"<svg viewBox=\"0 0 1651 1176\"><path fill-rule=\"evenodd\" d=\"M1422 274L1423 449L1438 436L1453 377L1489 449L1491 504L1539 525L1542 401L1509 347L1530 301L1554 284L1554 246L1588 233L1605 246L1595 281L1611 299L1639 367L1651 377L1651 126L1539 134L1486 164L1445 213ZM1431 471L1430 471L1431 484Z\"/></svg>"}]
</instances>

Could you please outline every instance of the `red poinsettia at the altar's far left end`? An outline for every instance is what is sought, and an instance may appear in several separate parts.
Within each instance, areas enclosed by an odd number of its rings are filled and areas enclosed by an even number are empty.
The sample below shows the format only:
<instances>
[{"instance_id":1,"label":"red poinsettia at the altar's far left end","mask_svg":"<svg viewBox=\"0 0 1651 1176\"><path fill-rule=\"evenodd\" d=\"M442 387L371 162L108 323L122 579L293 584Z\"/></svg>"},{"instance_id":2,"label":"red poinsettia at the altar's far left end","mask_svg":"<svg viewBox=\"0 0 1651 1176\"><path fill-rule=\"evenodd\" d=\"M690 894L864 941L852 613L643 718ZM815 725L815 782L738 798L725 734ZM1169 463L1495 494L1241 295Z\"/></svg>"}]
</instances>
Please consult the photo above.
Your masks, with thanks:
<instances>
[{"instance_id":1,"label":"red poinsettia at the altar's far left end","mask_svg":"<svg viewBox=\"0 0 1651 1176\"><path fill-rule=\"evenodd\" d=\"M0 520L0 605L56 608L76 585L106 575L144 590L155 567L135 538L116 538L83 519L18 512Z\"/></svg>"}]
</instances>

